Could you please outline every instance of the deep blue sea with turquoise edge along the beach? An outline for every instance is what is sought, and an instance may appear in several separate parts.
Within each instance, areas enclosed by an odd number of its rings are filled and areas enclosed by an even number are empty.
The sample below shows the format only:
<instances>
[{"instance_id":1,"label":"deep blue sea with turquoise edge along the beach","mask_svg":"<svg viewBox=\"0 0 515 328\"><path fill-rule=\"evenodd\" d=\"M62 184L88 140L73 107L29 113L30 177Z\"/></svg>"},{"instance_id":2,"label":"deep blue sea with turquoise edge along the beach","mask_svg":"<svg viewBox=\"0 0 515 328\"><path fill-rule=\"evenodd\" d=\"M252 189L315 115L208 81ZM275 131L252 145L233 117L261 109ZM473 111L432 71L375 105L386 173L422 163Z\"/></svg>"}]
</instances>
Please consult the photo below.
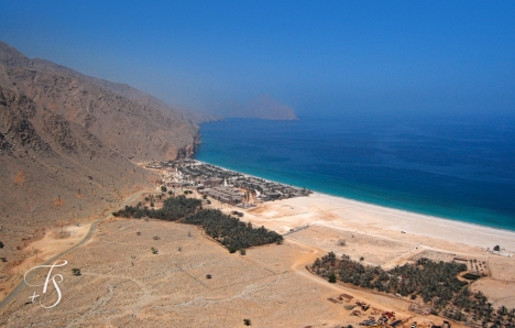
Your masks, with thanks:
<instances>
[{"instance_id":1,"label":"deep blue sea with turquoise edge along the beach","mask_svg":"<svg viewBox=\"0 0 515 328\"><path fill-rule=\"evenodd\" d=\"M515 124L300 118L204 123L196 158L262 178L515 230Z\"/></svg>"}]
</instances>

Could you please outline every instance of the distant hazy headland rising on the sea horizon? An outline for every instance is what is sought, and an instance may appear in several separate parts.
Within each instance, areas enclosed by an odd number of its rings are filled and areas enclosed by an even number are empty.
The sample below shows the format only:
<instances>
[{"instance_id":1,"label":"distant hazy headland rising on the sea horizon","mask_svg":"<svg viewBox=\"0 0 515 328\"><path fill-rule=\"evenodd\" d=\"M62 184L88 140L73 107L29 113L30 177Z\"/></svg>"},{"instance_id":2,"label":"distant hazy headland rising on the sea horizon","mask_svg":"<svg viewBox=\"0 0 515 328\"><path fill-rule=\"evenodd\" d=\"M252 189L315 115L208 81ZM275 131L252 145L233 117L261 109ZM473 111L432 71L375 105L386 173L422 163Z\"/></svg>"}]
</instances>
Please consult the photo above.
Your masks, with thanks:
<instances>
[{"instance_id":1,"label":"distant hazy headland rising on the sea horizon","mask_svg":"<svg viewBox=\"0 0 515 328\"><path fill-rule=\"evenodd\" d=\"M246 103L224 103L220 106L219 113L227 118L298 120L292 107L278 102L267 94L260 95Z\"/></svg>"}]
</instances>

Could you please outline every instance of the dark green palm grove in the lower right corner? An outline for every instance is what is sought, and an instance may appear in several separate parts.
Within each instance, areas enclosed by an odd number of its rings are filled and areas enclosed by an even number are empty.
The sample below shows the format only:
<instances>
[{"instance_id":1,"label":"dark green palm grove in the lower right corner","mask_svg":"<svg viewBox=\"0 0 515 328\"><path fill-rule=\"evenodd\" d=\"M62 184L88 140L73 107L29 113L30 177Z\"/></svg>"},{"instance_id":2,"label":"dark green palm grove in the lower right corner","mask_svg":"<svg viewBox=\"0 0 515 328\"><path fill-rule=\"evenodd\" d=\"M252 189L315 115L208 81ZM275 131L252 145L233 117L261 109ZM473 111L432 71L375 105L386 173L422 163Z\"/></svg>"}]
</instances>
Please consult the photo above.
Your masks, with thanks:
<instances>
[{"instance_id":1,"label":"dark green palm grove in the lower right corner","mask_svg":"<svg viewBox=\"0 0 515 328\"><path fill-rule=\"evenodd\" d=\"M434 314L450 319L475 321L483 327L489 324L515 325L515 309L508 310L502 306L495 310L486 296L481 292L471 292L468 288L469 283L458 278L458 274L467 271L465 264L434 262L423 258L415 264L397 265L385 271L381 266L365 266L346 254L338 259L330 252L317 259L310 270L332 283L339 278L363 288L401 296L410 295L412 299L419 296L432 307Z\"/></svg>"}]
</instances>

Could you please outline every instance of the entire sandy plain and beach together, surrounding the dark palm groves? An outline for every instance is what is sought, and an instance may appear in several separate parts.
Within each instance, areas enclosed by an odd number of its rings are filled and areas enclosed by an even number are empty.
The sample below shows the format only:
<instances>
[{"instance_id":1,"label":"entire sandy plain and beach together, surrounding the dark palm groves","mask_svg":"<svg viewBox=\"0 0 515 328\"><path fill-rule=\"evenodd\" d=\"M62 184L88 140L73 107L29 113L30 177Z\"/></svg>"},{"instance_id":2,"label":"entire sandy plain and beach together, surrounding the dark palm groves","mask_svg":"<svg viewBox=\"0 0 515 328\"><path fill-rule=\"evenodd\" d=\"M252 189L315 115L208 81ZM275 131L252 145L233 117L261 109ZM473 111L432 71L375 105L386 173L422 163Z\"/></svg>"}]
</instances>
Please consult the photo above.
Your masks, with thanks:
<instances>
[{"instance_id":1,"label":"entire sandy plain and beach together, surrounding the dark palm groves","mask_svg":"<svg viewBox=\"0 0 515 328\"><path fill-rule=\"evenodd\" d=\"M51 306L58 297L52 283L44 295L41 286L26 286L0 310L0 326L245 327L243 319L250 319L252 327L355 326L364 317L351 316L343 307L349 303L328 300L343 293L354 297L350 304L355 299L371 304L369 311L374 308L396 311L405 319L405 327L413 321L419 327L429 326L429 321L441 324L441 318L408 311L407 299L329 284L310 274L305 266L328 251L353 259L363 256L364 262L383 266L403 264L421 255L435 260L476 259L485 262L489 277L472 288L483 291L494 306L515 307L511 296L515 295L513 258L485 250L498 240L497 243L506 241L511 247L509 234L478 230L478 236L470 236L471 242L467 243L467 239L457 242L438 234L441 228L437 232L419 232L414 218L403 218L403 212L395 212L401 217L388 221L385 216L391 215L390 210L379 214L361 209L360 217L360 208L339 199L314 195L243 210L243 220L282 233L305 228L285 236L281 245L249 249L245 255L230 254L194 226L141 219L106 220L88 243L62 258L67 265L54 269L53 275L63 276L58 284L61 302L52 308L41 306ZM223 211L235 209L216 201L212 206ZM446 223L436 222L438 227ZM449 231L454 229L452 225L448 227ZM77 242L86 229L81 228L65 227L64 234L56 233L61 228L48 232L44 240L30 247L41 250L40 259L33 259L30 265L50 256L50 249L57 253L66 242ZM485 233L493 233L492 239ZM346 245L338 244L340 240ZM72 269L80 269L81 275L73 275ZM32 282L43 284L47 272L42 271ZM207 278L208 274L211 278ZM35 292L40 297L31 303L30 296Z\"/></svg>"}]
</instances>

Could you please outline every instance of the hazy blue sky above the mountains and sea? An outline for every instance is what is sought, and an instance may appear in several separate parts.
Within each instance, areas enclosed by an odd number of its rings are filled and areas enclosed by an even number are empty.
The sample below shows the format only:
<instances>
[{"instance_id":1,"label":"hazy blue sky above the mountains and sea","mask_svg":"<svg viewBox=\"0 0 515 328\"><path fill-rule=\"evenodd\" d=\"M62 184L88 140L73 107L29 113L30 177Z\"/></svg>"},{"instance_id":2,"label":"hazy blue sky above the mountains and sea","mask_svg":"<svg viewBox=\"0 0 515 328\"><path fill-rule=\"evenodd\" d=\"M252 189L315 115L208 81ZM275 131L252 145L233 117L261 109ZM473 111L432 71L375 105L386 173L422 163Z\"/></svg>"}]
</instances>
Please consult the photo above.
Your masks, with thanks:
<instances>
[{"instance_id":1,"label":"hazy blue sky above the mountains and sea","mask_svg":"<svg viewBox=\"0 0 515 328\"><path fill-rule=\"evenodd\" d=\"M0 40L169 103L515 112L515 1L0 0Z\"/></svg>"}]
</instances>

